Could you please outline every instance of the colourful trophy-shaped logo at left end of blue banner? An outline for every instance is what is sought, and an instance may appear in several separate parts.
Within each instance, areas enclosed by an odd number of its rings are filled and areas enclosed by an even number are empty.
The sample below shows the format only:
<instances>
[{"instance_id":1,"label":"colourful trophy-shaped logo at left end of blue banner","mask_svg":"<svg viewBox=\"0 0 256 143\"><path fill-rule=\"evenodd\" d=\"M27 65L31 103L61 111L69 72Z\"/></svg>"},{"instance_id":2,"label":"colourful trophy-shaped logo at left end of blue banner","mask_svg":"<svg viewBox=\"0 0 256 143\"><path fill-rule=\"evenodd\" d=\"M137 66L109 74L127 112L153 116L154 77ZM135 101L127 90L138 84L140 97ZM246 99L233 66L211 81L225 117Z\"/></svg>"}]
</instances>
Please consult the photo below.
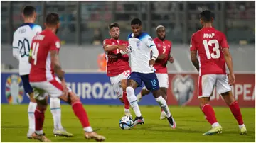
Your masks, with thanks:
<instances>
[{"instance_id":1,"label":"colourful trophy-shaped logo at left end of blue banner","mask_svg":"<svg viewBox=\"0 0 256 143\"><path fill-rule=\"evenodd\" d=\"M12 74L6 79L6 100L9 104L20 104L23 101L23 84L21 77Z\"/></svg>"}]
</instances>

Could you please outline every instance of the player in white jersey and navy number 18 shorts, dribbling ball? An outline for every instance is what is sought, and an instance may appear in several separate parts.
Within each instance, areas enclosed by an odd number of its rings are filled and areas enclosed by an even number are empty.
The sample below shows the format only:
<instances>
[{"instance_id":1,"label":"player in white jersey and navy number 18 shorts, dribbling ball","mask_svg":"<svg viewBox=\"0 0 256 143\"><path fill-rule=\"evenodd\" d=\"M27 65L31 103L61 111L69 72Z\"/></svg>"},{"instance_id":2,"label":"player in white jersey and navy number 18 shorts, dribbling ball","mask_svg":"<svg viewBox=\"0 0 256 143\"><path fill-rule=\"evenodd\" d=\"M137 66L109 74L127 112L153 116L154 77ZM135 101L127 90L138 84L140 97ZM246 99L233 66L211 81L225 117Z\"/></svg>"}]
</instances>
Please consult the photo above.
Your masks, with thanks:
<instances>
[{"instance_id":1,"label":"player in white jersey and navy number 18 shorts, dribbling ball","mask_svg":"<svg viewBox=\"0 0 256 143\"><path fill-rule=\"evenodd\" d=\"M128 77L127 81L127 98L136 115L134 125L144 123L144 118L139 110L137 98L134 94L134 90L138 86L142 86L143 81L146 88L153 93L154 98L156 98L156 101L166 113L169 125L175 128L176 122L171 115L166 101L161 96L159 81L157 80L153 67L159 55L156 45L150 35L142 32L141 20L134 18L131 21L131 27L132 33L128 35L128 41L131 51L129 52L129 66L131 67L132 74ZM152 58L150 58L151 52Z\"/></svg>"}]
</instances>

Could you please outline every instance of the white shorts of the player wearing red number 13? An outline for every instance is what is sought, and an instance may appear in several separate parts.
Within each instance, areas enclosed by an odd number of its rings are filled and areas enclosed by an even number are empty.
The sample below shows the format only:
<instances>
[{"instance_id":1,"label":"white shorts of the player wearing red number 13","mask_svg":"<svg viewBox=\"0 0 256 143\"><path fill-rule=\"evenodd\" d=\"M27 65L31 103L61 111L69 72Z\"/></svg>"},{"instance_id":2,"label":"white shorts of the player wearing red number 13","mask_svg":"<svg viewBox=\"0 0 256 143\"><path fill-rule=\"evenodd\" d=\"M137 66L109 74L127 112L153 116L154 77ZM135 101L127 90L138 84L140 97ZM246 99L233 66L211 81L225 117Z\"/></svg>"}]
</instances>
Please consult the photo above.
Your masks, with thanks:
<instances>
[{"instance_id":1,"label":"white shorts of the player wearing red number 13","mask_svg":"<svg viewBox=\"0 0 256 143\"><path fill-rule=\"evenodd\" d=\"M206 74L198 77L198 98L210 97L214 86L218 94L231 91L226 74Z\"/></svg>"}]
</instances>

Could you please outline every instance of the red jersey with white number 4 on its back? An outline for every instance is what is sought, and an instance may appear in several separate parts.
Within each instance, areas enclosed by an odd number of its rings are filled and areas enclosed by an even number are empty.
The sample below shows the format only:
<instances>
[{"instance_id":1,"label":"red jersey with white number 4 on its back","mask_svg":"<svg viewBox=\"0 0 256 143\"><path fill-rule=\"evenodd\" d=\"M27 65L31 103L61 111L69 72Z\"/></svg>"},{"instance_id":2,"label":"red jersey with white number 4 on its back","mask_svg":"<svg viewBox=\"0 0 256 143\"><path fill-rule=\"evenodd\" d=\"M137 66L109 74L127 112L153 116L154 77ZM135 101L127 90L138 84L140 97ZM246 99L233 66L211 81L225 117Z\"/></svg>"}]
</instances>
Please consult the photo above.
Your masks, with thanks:
<instances>
[{"instance_id":1,"label":"red jersey with white number 4 on its back","mask_svg":"<svg viewBox=\"0 0 256 143\"><path fill-rule=\"evenodd\" d=\"M50 51L60 50L59 38L50 30L43 30L36 35L31 43L31 72L29 81L51 81L55 78L53 65L50 61Z\"/></svg>"}]
</instances>

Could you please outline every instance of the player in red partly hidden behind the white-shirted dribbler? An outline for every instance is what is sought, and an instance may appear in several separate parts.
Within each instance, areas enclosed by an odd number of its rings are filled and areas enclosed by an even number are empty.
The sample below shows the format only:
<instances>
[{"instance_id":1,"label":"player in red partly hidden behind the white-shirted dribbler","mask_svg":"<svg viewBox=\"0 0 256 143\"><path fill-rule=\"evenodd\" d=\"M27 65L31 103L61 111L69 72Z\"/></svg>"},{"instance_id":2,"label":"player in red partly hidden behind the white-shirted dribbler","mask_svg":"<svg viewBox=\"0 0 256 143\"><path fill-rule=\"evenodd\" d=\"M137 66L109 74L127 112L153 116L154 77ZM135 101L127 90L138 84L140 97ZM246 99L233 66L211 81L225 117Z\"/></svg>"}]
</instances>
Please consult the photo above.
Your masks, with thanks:
<instances>
[{"instance_id":1,"label":"player in red partly hidden behind the white-shirted dribbler","mask_svg":"<svg viewBox=\"0 0 256 143\"><path fill-rule=\"evenodd\" d=\"M171 41L165 40L166 38L166 28L163 25L156 27L157 38L154 38L154 43L156 44L157 50L159 51L159 57L156 59L154 64L154 69L156 69L156 77L159 81L161 96L166 100L167 103L167 89L169 88L169 77L167 74L167 62L174 62L174 57L171 57ZM143 96L149 94L150 91L145 87L137 95L137 101L139 102ZM166 118L166 113L161 109L160 119Z\"/></svg>"}]
</instances>

